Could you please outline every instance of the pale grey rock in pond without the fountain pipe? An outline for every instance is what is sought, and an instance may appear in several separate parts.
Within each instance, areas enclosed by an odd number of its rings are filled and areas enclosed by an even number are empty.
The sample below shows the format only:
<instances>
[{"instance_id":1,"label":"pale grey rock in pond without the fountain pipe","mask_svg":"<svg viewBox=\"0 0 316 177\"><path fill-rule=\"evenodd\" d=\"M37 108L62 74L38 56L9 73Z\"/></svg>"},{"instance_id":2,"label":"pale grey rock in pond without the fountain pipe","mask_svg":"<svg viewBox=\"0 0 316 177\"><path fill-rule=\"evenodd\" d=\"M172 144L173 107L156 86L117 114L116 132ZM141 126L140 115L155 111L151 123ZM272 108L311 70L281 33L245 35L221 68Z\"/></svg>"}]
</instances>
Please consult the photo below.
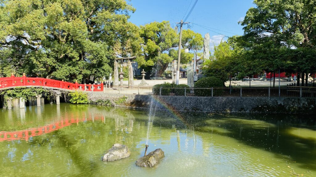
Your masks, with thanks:
<instances>
[{"instance_id":1,"label":"pale grey rock in pond without the fountain pipe","mask_svg":"<svg viewBox=\"0 0 316 177\"><path fill-rule=\"evenodd\" d=\"M103 161L114 161L122 158L130 157L130 151L127 146L114 144L111 149L103 156Z\"/></svg>"}]
</instances>

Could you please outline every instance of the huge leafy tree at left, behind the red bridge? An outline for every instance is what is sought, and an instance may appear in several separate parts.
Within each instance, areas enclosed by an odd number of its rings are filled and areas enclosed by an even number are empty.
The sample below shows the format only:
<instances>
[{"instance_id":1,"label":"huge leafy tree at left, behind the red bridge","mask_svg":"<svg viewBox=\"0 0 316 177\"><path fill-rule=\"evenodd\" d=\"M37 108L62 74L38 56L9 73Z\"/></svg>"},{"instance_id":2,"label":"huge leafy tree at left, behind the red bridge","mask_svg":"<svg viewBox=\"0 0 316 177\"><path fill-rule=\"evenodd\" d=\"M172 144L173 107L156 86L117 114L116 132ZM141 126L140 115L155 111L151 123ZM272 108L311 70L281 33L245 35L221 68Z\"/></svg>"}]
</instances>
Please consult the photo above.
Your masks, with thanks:
<instances>
[{"instance_id":1,"label":"huge leafy tree at left, behind the red bridge","mask_svg":"<svg viewBox=\"0 0 316 177\"><path fill-rule=\"evenodd\" d=\"M111 59L136 53L142 40L125 0L0 2L0 72L74 82L108 77Z\"/></svg>"}]
</instances>

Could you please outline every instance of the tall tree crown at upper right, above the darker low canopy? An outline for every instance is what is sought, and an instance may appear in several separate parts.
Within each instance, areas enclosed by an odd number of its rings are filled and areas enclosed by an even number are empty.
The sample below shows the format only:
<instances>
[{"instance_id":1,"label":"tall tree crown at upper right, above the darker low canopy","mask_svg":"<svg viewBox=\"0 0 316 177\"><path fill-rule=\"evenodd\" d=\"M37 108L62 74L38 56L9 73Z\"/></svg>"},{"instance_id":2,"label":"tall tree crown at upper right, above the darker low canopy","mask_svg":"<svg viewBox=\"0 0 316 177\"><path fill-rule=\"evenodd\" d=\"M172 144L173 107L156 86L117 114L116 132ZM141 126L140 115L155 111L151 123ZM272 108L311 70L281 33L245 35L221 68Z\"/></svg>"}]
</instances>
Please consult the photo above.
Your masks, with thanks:
<instances>
[{"instance_id":1,"label":"tall tree crown at upper right, above the darker low canopy","mask_svg":"<svg viewBox=\"0 0 316 177\"><path fill-rule=\"evenodd\" d=\"M254 0L240 22L252 43L272 42L275 46L314 46L315 0ZM273 46L273 47L275 47Z\"/></svg>"}]
</instances>

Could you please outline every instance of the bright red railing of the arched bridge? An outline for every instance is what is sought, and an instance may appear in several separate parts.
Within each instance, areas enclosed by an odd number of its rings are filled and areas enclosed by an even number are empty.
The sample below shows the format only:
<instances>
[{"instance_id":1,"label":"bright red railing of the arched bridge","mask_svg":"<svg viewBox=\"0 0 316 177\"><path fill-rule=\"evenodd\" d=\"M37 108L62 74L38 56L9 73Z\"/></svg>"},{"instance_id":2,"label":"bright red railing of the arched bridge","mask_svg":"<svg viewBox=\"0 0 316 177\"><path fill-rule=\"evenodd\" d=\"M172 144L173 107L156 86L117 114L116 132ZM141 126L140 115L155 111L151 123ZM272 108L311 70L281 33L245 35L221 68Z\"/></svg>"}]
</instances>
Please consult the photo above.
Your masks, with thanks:
<instances>
[{"instance_id":1,"label":"bright red railing of the arched bridge","mask_svg":"<svg viewBox=\"0 0 316 177\"><path fill-rule=\"evenodd\" d=\"M45 86L53 88L63 88L68 90L82 90L82 91L93 91L93 92L103 92L103 83L101 84L78 84L69 83L64 81L58 81L53 79L46 79L40 77L26 77L23 74L22 77L1 77L0 78L0 88L7 87L18 87L18 86Z\"/></svg>"}]
</instances>

